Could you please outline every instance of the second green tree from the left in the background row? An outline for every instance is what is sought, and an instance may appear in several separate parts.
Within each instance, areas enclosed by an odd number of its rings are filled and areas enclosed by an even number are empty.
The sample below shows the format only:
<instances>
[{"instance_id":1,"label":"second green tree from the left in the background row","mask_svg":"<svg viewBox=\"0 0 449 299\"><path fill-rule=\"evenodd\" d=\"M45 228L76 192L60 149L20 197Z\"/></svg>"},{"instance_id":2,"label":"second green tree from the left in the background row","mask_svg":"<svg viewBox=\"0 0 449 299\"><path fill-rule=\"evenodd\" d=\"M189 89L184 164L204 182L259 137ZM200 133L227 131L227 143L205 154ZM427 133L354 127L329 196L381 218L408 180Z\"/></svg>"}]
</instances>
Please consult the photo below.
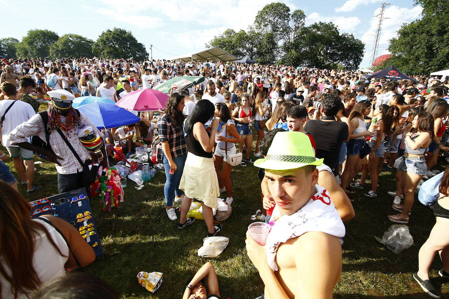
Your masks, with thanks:
<instances>
[{"instance_id":1,"label":"second green tree from the left in the background row","mask_svg":"<svg viewBox=\"0 0 449 299\"><path fill-rule=\"evenodd\" d=\"M50 46L58 40L56 32L50 30L29 30L17 44L17 56L22 58L47 57Z\"/></svg>"}]
</instances>

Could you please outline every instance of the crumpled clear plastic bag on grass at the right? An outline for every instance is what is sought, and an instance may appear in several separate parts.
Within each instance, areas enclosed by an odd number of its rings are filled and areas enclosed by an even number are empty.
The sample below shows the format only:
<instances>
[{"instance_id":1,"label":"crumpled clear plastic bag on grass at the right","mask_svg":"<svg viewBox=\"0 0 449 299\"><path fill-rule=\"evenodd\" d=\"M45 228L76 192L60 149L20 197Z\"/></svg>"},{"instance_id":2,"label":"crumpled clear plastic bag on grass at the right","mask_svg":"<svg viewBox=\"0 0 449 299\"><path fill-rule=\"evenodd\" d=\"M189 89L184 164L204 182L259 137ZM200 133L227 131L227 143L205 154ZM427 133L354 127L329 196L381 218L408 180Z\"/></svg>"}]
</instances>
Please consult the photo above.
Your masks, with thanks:
<instances>
[{"instance_id":1,"label":"crumpled clear plastic bag on grass at the right","mask_svg":"<svg viewBox=\"0 0 449 299\"><path fill-rule=\"evenodd\" d=\"M409 227L404 224L393 224L384 232L382 239L376 236L374 238L396 254L400 254L401 251L413 245L413 237L410 234Z\"/></svg>"}]
</instances>

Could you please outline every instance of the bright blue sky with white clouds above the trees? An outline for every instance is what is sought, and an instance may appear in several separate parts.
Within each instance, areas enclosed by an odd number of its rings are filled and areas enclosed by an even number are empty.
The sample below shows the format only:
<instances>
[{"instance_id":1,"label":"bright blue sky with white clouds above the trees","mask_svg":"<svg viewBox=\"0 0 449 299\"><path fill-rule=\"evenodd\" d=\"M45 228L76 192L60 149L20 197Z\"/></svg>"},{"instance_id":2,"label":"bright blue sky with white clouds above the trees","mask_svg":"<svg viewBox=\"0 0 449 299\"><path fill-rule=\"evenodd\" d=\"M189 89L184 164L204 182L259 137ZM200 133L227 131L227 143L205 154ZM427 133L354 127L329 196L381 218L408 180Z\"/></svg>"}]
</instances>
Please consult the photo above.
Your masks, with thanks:
<instances>
[{"instance_id":1,"label":"bright blue sky with white clouds above the trees","mask_svg":"<svg viewBox=\"0 0 449 299\"><path fill-rule=\"evenodd\" d=\"M21 40L30 29L48 29L59 36L76 33L95 40L114 27L130 30L153 58L170 59L205 49L205 44L227 28L247 29L272 0L0 0L0 38ZM334 22L341 33L353 33L365 43L360 68L369 67L382 0L283 0L290 10L302 9L306 25ZM403 23L420 17L413 0L387 3L378 55L387 54L389 40ZM11 13L4 13L10 11ZM20 12L20 13L15 13Z\"/></svg>"}]
</instances>

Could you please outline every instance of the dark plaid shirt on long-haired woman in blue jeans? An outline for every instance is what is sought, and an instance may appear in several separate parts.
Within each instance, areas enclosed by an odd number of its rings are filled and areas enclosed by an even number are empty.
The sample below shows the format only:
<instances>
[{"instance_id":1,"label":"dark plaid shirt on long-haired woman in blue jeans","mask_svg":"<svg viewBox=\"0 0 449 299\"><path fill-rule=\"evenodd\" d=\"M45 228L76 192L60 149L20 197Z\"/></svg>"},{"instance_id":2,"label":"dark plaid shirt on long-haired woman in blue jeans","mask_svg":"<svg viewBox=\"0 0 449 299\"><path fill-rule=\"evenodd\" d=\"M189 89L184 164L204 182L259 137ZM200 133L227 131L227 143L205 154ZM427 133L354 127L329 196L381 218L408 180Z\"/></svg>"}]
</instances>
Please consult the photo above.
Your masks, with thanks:
<instances>
[{"instance_id":1,"label":"dark plaid shirt on long-haired woman in blue jeans","mask_svg":"<svg viewBox=\"0 0 449 299\"><path fill-rule=\"evenodd\" d=\"M187 155L184 129L182 127L175 128L167 114L164 114L158 121L158 134L161 142L168 141L172 157Z\"/></svg>"}]
</instances>

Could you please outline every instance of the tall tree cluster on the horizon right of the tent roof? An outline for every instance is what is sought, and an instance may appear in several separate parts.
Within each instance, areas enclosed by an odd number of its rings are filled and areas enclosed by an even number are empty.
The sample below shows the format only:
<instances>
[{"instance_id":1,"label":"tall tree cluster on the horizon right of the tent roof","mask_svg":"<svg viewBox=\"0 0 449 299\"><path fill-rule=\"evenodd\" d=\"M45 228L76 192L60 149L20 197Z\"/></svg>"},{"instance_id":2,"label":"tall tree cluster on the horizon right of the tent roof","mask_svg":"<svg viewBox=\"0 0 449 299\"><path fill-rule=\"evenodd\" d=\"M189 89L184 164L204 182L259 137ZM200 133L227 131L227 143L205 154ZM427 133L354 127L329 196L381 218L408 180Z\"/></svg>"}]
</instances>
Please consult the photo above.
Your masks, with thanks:
<instances>
[{"instance_id":1,"label":"tall tree cluster on the horizon right of the tent roof","mask_svg":"<svg viewBox=\"0 0 449 299\"><path fill-rule=\"evenodd\" d=\"M237 58L263 64L349 69L359 67L365 44L349 33L340 33L332 22L305 26L301 9L290 12L284 3L265 5L245 31L226 29L206 46L219 47Z\"/></svg>"}]
</instances>

